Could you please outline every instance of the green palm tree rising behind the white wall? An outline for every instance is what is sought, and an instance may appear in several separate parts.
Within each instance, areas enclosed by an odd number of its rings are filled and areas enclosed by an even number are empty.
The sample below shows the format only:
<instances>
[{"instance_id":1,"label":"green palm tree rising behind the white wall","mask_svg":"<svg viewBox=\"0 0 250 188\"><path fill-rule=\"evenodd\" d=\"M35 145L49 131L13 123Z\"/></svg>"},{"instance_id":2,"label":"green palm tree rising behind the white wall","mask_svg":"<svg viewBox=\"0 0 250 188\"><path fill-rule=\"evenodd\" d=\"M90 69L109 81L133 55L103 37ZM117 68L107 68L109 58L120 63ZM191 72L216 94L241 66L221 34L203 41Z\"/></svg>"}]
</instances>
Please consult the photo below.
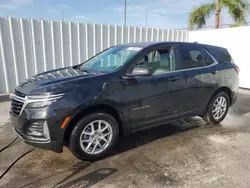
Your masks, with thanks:
<instances>
[{"instance_id":1,"label":"green palm tree rising behind the white wall","mask_svg":"<svg viewBox=\"0 0 250 188\"><path fill-rule=\"evenodd\" d=\"M206 24L206 19L215 14L215 28L220 27L221 10L227 9L229 15L234 20L232 26L240 26L246 24L246 15L249 11L249 3L246 0L216 0L212 3L203 3L189 15L189 28L197 29Z\"/></svg>"}]
</instances>

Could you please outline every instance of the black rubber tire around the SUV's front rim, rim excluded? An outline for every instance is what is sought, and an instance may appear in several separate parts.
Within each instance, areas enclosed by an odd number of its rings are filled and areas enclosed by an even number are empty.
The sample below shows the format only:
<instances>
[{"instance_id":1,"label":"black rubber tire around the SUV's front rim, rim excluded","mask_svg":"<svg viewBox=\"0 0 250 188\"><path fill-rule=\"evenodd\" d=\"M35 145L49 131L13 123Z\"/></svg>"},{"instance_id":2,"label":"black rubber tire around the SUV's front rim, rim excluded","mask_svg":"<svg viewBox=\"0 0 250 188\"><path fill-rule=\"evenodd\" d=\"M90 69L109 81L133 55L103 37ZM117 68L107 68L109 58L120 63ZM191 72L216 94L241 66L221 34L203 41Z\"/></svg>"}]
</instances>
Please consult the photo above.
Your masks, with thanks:
<instances>
[{"instance_id":1,"label":"black rubber tire around the SUV's front rim, rim excluded","mask_svg":"<svg viewBox=\"0 0 250 188\"><path fill-rule=\"evenodd\" d=\"M113 137L112 140L109 144L109 146L101 153L99 154L88 154L86 152L84 152L80 146L80 135L83 131L83 129L92 121L95 120L105 120L107 121L111 127L112 127L112 131L113 131ZM93 114L89 114L87 116L85 116L84 118L82 118L81 120L78 121L78 123L75 125L71 136L70 136L70 150L71 152L79 159L81 160L89 160L89 161L93 161L93 160L98 160L101 159L102 157L104 157L115 145L117 139L119 136L119 129L118 129L118 124L117 121L109 114L107 113L93 113Z\"/></svg>"}]
</instances>

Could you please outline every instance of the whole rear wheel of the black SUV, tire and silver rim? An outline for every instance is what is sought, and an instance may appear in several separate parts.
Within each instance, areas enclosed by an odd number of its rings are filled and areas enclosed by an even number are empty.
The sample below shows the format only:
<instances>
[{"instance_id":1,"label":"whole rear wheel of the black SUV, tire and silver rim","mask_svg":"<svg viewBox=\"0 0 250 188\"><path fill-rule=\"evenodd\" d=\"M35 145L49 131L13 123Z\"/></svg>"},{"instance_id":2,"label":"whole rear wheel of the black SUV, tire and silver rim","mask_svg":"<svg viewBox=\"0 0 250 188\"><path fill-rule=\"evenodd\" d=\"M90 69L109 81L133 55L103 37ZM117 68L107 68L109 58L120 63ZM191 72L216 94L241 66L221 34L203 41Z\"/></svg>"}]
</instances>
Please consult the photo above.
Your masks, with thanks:
<instances>
[{"instance_id":1,"label":"whole rear wheel of the black SUV, tire and silver rim","mask_svg":"<svg viewBox=\"0 0 250 188\"><path fill-rule=\"evenodd\" d=\"M226 117L230 100L225 92L219 92L210 100L207 111L203 116L209 124L219 124Z\"/></svg>"}]
</instances>

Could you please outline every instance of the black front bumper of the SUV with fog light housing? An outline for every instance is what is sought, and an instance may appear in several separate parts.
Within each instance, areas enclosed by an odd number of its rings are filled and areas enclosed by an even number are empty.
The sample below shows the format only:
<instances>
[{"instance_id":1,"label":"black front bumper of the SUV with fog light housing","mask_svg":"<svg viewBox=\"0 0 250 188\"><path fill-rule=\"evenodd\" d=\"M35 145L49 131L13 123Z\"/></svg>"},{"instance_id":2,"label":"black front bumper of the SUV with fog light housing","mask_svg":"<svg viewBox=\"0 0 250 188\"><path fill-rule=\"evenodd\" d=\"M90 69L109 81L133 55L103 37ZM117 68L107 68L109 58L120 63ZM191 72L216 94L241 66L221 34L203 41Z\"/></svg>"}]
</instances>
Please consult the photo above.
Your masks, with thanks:
<instances>
[{"instance_id":1,"label":"black front bumper of the SUV with fog light housing","mask_svg":"<svg viewBox=\"0 0 250 188\"><path fill-rule=\"evenodd\" d=\"M12 102L17 103L13 100ZM12 105L10 120L15 133L27 144L60 153L63 151L67 127L62 129L60 126L71 113L72 108L64 100L43 108L23 108L20 114L13 113Z\"/></svg>"}]
</instances>

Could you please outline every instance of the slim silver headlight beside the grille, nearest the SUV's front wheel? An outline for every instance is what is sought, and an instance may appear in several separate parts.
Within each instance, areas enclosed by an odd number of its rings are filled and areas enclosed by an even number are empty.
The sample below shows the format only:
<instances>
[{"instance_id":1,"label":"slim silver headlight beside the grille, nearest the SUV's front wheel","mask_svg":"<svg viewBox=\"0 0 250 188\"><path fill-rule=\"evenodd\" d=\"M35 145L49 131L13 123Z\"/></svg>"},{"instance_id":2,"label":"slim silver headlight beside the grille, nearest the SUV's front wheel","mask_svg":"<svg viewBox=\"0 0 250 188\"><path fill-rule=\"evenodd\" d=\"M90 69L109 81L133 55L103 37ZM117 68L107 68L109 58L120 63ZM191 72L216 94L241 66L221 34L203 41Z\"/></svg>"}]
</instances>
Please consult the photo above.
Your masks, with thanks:
<instances>
[{"instance_id":1,"label":"slim silver headlight beside the grille, nearest the SUV's front wheel","mask_svg":"<svg viewBox=\"0 0 250 188\"><path fill-rule=\"evenodd\" d=\"M64 94L56 95L31 95L28 96L27 108L43 108L63 97Z\"/></svg>"}]
</instances>

